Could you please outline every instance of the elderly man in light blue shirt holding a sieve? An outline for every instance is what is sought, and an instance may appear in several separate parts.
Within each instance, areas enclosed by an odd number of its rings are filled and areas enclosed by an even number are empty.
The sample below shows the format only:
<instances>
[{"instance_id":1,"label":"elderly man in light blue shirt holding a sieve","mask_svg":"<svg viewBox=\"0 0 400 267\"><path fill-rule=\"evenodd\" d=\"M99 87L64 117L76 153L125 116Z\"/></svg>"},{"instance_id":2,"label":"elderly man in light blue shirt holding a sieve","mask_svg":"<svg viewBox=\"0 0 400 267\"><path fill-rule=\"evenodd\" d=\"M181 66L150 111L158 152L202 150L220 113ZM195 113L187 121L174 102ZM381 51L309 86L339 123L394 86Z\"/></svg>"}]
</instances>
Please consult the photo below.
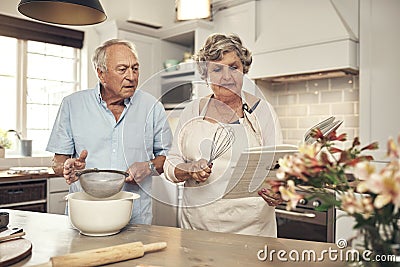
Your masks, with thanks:
<instances>
[{"instance_id":1,"label":"elderly man in light blue shirt holding a sieve","mask_svg":"<svg viewBox=\"0 0 400 267\"><path fill-rule=\"evenodd\" d=\"M53 169L70 192L81 191L75 171L84 168L127 170L125 191L140 195L131 222L150 224L151 176L163 172L172 134L165 110L153 96L137 90L139 61L128 41L98 47L93 65L96 88L62 101L47 145Z\"/></svg>"}]
</instances>

